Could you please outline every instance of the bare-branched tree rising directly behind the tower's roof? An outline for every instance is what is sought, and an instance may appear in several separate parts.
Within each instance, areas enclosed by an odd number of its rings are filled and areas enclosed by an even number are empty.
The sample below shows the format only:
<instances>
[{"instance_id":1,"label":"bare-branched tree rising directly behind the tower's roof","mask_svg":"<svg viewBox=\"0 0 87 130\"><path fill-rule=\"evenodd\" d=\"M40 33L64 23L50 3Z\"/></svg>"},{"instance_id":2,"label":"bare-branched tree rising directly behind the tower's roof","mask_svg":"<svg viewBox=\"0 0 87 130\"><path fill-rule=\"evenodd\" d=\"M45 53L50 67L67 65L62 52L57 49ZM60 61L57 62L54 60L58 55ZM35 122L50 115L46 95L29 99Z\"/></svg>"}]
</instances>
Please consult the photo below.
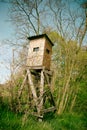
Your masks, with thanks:
<instances>
[{"instance_id":1,"label":"bare-branched tree rising directly behind the tower's roof","mask_svg":"<svg viewBox=\"0 0 87 130\"><path fill-rule=\"evenodd\" d=\"M18 33L22 36L39 34L44 28L43 17L45 15L45 2L43 0L14 0L11 1L12 8L10 18L16 24Z\"/></svg>"}]
</instances>

